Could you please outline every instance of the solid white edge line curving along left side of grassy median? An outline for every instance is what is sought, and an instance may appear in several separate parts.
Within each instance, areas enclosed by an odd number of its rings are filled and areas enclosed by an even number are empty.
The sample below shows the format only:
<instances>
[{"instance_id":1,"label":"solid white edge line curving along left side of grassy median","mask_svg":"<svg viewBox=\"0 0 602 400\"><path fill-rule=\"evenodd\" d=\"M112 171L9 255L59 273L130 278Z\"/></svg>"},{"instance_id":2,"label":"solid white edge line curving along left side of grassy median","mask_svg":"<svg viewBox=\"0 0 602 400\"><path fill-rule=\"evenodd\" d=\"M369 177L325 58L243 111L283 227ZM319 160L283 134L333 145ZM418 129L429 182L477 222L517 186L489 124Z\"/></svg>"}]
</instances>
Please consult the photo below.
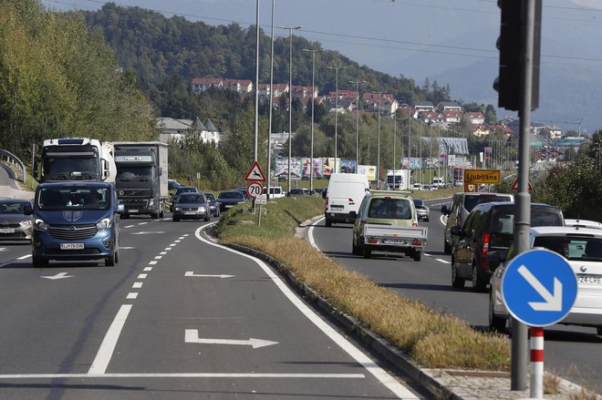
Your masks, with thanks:
<instances>
[{"instance_id":1,"label":"solid white edge line curving along left side of grassy median","mask_svg":"<svg viewBox=\"0 0 602 400\"><path fill-rule=\"evenodd\" d=\"M404 385L401 385L393 376L391 376L385 370L380 368L366 354L363 354L356 346L351 344L347 339L345 339L345 337L343 337L340 333L337 333L337 331L335 331L332 327L330 327L330 325L325 323L319 316L317 316L317 314L314 313L313 310L311 310L306 305L306 303L303 303L303 301L301 299L299 299L296 296L296 294L288 288L288 286L286 286L285 282L283 282L278 277L278 275L276 275L275 272L273 272L272 269L265 262L263 262L259 259L256 259L253 256L250 256L248 254L244 254L243 252L235 251L233 249L224 247L220 244L213 243L212 241L205 240L201 235L201 231L202 231L202 229L204 229L208 226L211 226L211 225L212 224L207 224L207 225L204 225L204 226L198 228L194 232L197 239L199 239L200 241L202 241L206 244L209 244L210 246L219 247L219 248L223 249L224 251L230 251L230 252L233 252L234 254L239 254L242 257L246 257L250 260L253 260L255 263L257 263L259 265L259 267L265 272L265 274L267 274L267 276L270 277L272 282L275 283L276 287L285 294L286 298L288 298L288 300L291 303L293 303L301 313L306 315L306 317L307 317L307 319L309 319L309 321L314 323L318 329L320 329L323 333L325 333L330 338L330 340L332 340L333 342L338 344L338 346L341 349L343 349L347 354L349 354L359 364L361 364L364 368L366 368L366 370L368 370L368 372L370 374L373 374L382 385L387 386L387 388L389 388L389 390L392 393L394 393L401 399L418 399L418 397L416 395L414 395L413 393L411 393L407 387L405 387Z\"/></svg>"}]
</instances>

